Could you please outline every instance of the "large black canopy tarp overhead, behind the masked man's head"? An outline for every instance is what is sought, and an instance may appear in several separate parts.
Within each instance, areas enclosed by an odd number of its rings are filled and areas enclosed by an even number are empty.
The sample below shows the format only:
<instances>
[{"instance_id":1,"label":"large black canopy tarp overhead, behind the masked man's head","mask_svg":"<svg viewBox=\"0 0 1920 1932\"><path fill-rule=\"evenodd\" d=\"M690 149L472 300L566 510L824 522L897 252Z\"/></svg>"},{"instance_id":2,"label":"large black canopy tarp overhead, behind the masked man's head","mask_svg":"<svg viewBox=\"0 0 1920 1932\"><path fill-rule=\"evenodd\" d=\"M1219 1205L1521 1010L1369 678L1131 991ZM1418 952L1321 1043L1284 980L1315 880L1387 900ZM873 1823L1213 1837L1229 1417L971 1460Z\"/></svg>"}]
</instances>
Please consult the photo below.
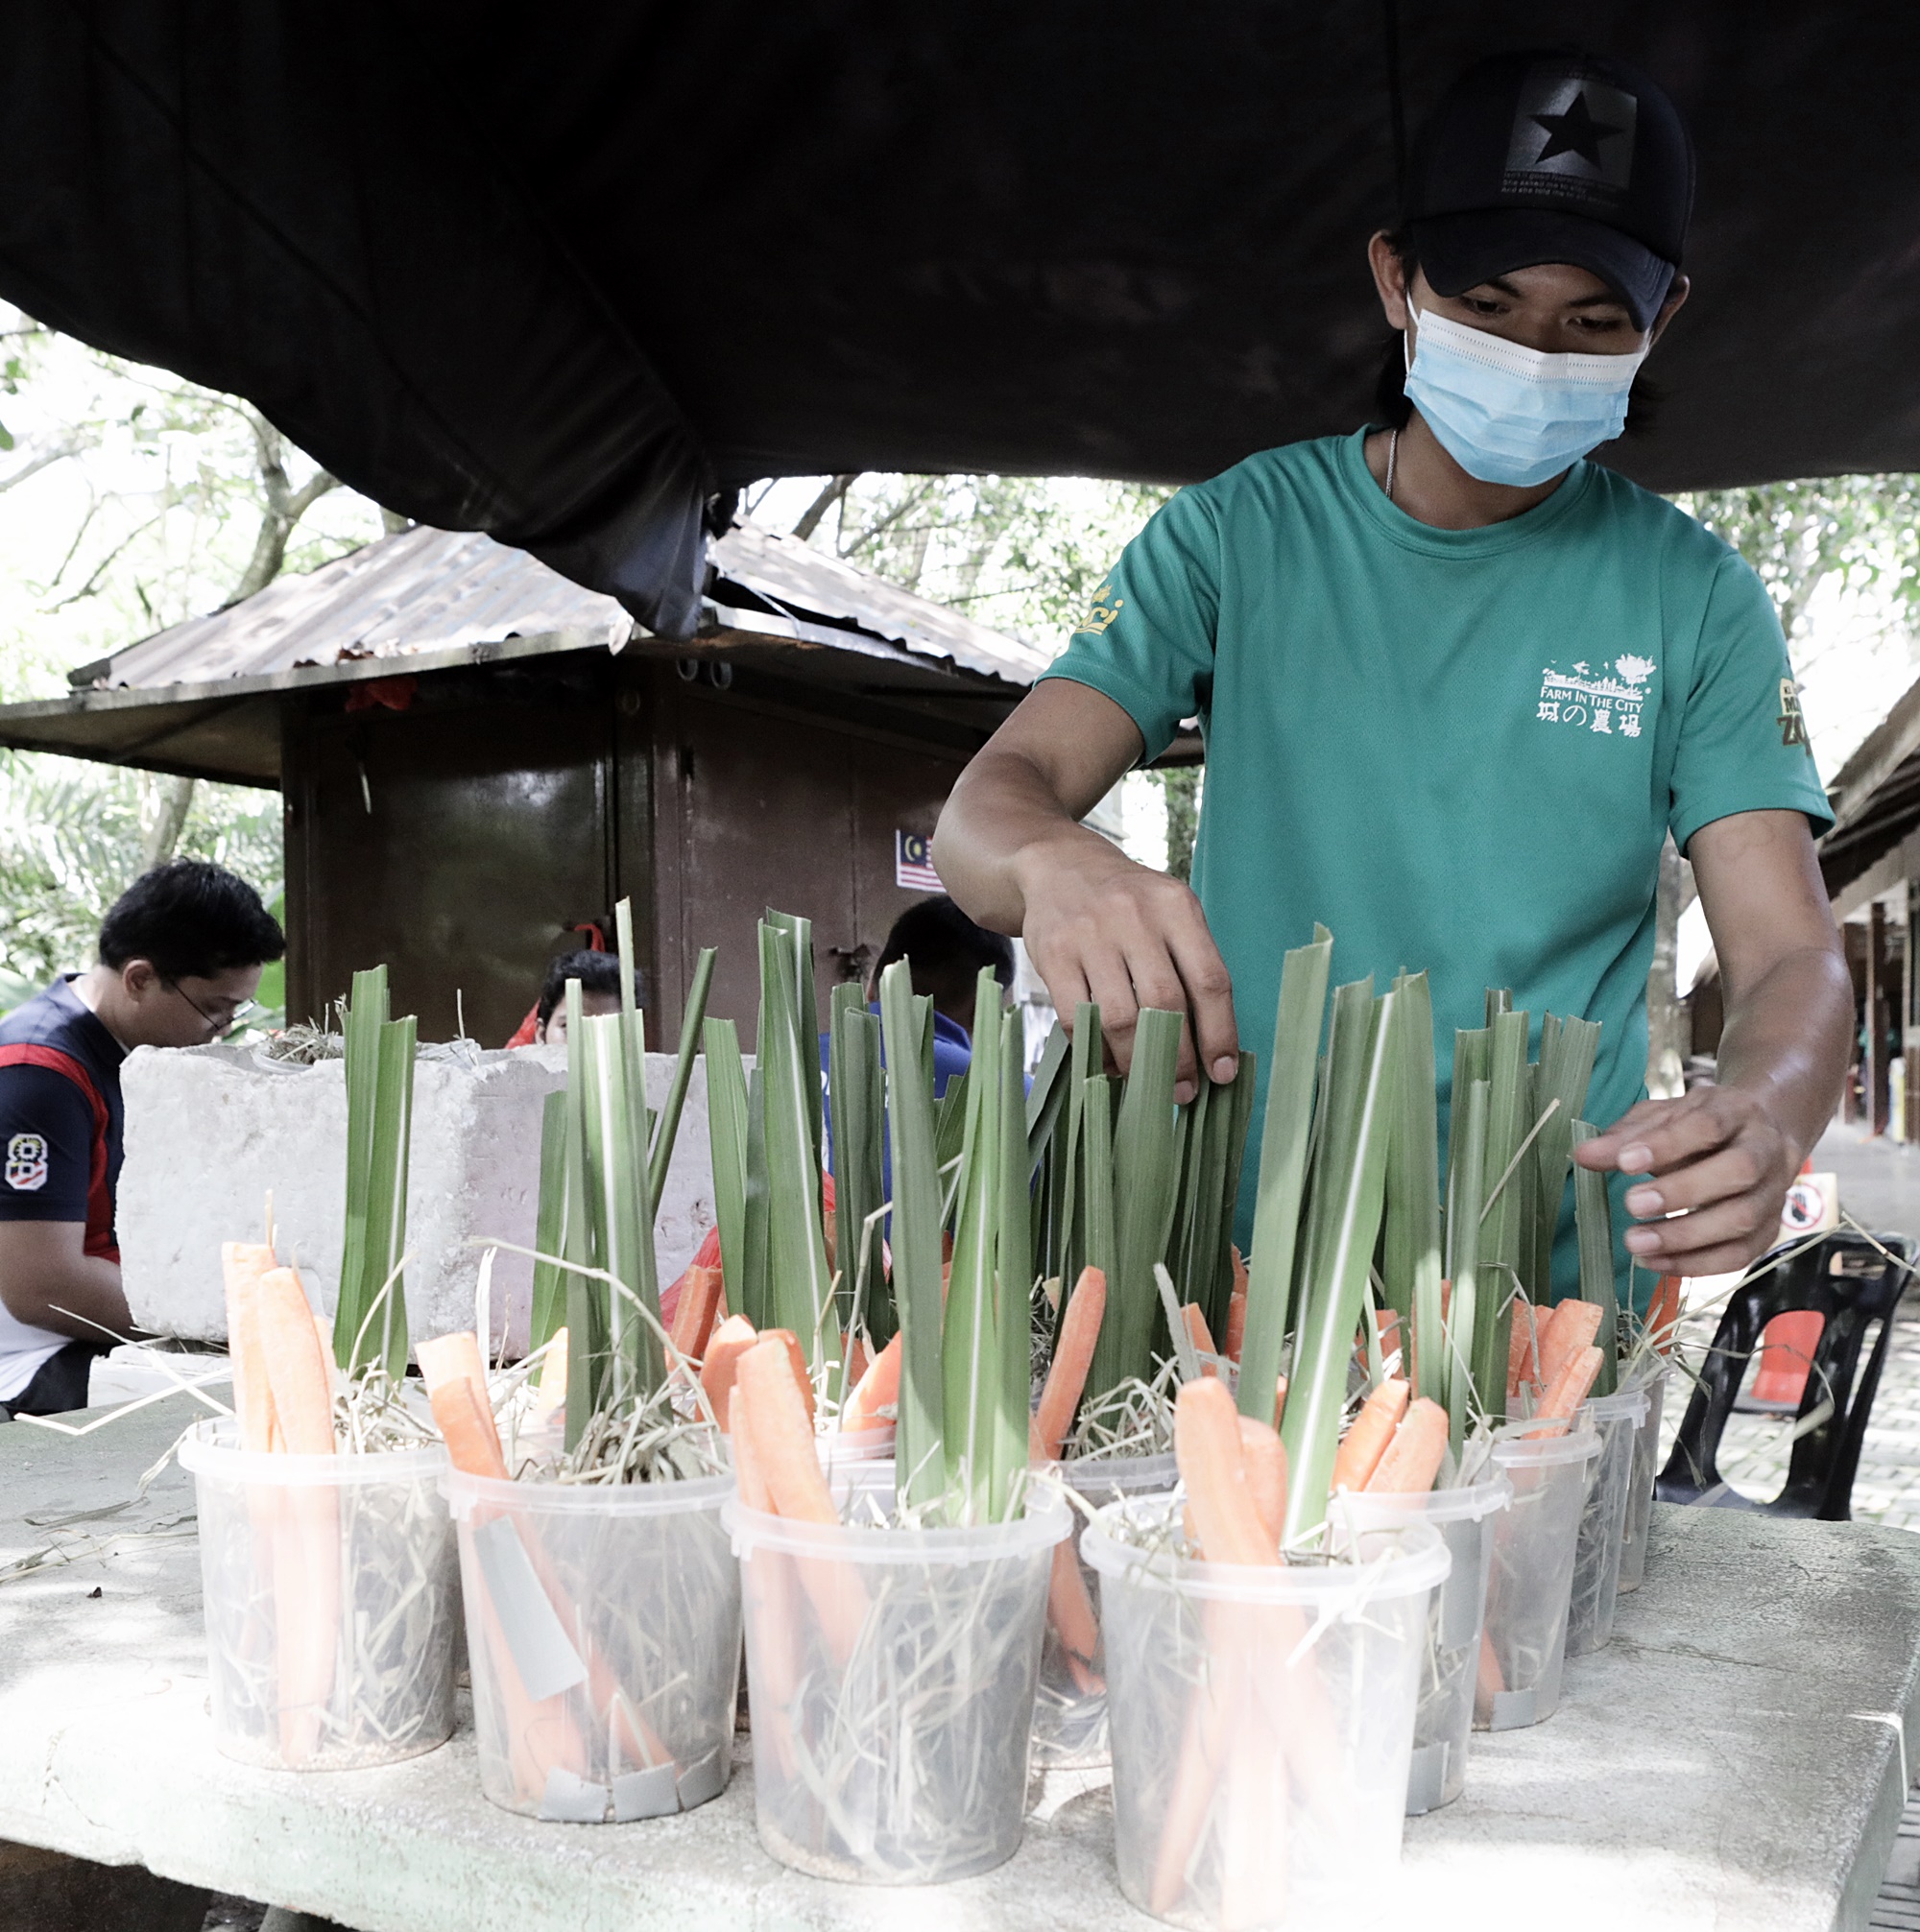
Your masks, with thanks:
<instances>
[{"instance_id":1,"label":"large black canopy tarp overhead, behind the masked man's head","mask_svg":"<svg viewBox=\"0 0 1920 1932\"><path fill-rule=\"evenodd\" d=\"M1381 0L12 0L0 294L427 524L690 622L773 473L1192 479L1364 419ZM1920 10L1402 4L1700 147L1659 487L1920 468Z\"/></svg>"}]
</instances>

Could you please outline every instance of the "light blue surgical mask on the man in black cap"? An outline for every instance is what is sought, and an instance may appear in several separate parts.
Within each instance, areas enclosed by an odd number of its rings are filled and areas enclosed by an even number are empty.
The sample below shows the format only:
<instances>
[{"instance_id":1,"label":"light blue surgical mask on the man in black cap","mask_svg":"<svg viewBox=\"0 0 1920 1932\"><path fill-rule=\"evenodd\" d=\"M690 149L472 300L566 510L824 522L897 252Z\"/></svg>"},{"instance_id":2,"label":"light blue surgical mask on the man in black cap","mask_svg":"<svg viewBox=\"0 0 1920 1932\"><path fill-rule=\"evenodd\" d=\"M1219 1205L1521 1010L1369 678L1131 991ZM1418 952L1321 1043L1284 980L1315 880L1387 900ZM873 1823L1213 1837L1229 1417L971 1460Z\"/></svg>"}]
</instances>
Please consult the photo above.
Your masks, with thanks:
<instances>
[{"instance_id":1,"label":"light blue surgical mask on the man in black cap","mask_svg":"<svg viewBox=\"0 0 1920 1932\"><path fill-rule=\"evenodd\" d=\"M1445 315L1416 315L1406 396L1470 477L1530 489L1626 425L1646 346L1632 355L1549 355Z\"/></svg>"}]
</instances>

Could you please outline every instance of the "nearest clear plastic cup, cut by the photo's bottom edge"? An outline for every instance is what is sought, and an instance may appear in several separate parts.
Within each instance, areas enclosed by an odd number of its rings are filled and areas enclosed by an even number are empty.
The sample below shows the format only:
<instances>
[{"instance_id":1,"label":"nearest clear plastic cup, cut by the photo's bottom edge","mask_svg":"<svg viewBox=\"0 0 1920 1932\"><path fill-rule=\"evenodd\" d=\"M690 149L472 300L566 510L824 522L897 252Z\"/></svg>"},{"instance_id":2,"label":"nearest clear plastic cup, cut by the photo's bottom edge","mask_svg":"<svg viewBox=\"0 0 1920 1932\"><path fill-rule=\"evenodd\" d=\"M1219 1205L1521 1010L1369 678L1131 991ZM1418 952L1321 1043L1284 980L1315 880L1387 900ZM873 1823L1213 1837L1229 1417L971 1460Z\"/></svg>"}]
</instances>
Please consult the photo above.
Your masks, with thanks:
<instances>
[{"instance_id":1,"label":"nearest clear plastic cup, cut by the photo's bottom edge","mask_svg":"<svg viewBox=\"0 0 1920 1932\"><path fill-rule=\"evenodd\" d=\"M1109 1503L1082 1544L1101 1580L1120 1889L1196 1932L1350 1932L1395 1903L1447 1546L1400 1519L1358 1530L1350 1559L1252 1569L1171 1555L1178 1520L1178 1495Z\"/></svg>"}]
</instances>

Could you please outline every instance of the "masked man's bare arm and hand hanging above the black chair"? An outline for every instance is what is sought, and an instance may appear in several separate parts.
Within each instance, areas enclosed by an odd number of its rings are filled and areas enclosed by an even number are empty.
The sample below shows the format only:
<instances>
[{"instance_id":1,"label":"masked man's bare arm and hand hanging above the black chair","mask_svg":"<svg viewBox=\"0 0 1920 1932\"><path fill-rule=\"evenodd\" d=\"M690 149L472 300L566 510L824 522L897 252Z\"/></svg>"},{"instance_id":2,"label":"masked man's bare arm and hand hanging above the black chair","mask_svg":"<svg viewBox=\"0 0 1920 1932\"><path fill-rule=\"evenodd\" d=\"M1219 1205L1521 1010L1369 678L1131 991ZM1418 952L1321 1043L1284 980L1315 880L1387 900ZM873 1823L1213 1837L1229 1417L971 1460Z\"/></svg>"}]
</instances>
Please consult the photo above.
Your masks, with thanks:
<instances>
[{"instance_id":1,"label":"masked man's bare arm and hand hanging above the black chair","mask_svg":"<svg viewBox=\"0 0 1920 1932\"><path fill-rule=\"evenodd\" d=\"M1740 811L1688 848L1727 999L1719 1084L1646 1099L1574 1150L1628 1188L1634 1258L1721 1275L1779 1240L1781 1204L1839 1099L1852 980L1798 811Z\"/></svg>"}]
</instances>

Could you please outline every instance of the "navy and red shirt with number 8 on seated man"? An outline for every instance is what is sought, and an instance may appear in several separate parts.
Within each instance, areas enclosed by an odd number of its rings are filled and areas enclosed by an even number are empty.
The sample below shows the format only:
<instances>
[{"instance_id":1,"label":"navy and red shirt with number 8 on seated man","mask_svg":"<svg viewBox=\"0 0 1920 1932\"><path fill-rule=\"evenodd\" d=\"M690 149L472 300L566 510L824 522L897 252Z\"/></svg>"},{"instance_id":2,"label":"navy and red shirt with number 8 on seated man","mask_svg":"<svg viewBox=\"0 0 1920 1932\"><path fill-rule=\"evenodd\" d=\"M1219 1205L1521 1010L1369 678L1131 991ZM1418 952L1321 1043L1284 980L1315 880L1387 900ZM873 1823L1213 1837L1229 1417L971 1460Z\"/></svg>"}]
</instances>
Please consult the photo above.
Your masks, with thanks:
<instances>
[{"instance_id":1,"label":"navy and red shirt with number 8 on seated man","mask_svg":"<svg viewBox=\"0 0 1920 1932\"><path fill-rule=\"evenodd\" d=\"M87 1254L120 1260L126 1057L64 978L0 1018L0 1221L85 1221Z\"/></svg>"}]
</instances>

